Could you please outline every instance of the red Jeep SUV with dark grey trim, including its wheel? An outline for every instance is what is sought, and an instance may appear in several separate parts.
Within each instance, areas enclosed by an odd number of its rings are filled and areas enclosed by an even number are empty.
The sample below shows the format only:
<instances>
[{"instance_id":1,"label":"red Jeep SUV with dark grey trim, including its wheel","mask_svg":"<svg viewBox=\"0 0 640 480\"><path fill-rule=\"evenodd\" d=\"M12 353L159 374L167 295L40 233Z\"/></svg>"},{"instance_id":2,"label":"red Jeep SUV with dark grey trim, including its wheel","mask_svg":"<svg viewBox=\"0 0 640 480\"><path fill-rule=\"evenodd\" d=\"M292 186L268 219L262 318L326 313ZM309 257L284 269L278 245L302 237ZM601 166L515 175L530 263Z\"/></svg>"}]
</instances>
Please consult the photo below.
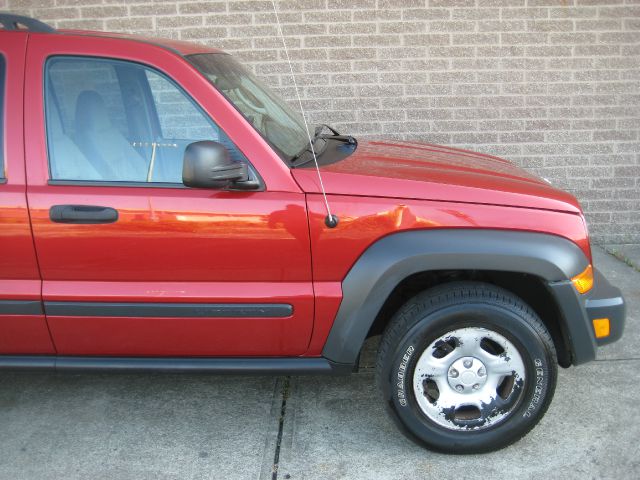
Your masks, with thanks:
<instances>
[{"instance_id":1,"label":"red Jeep SUV with dark grey trim, including its wheel","mask_svg":"<svg viewBox=\"0 0 640 480\"><path fill-rule=\"evenodd\" d=\"M512 163L311 138L206 46L0 24L0 368L349 373L381 335L391 418L466 453L622 335L578 202Z\"/></svg>"}]
</instances>

